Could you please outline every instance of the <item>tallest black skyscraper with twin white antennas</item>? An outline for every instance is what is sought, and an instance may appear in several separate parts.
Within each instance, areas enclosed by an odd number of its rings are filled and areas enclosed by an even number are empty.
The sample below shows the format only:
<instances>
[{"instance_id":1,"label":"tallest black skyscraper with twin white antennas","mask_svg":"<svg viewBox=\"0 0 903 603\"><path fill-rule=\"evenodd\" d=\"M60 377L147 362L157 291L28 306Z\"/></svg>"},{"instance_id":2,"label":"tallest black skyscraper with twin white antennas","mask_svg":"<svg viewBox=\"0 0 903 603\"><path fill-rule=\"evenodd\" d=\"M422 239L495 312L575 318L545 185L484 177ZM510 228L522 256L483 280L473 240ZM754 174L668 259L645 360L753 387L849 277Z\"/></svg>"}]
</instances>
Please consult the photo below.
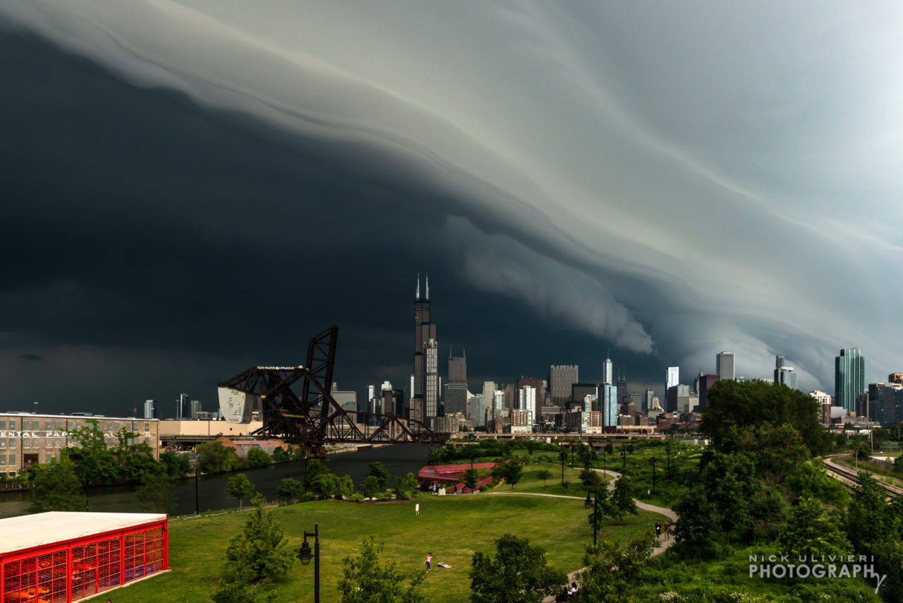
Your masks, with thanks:
<instances>
[{"instance_id":1,"label":"tallest black skyscraper with twin white antennas","mask_svg":"<svg viewBox=\"0 0 903 603\"><path fill-rule=\"evenodd\" d=\"M420 295L420 277L414 293L414 391L411 392L411 419L423 420L439 412L439 340L436 325L430 322L430 278Z\"/></svg>"}]
</instances>

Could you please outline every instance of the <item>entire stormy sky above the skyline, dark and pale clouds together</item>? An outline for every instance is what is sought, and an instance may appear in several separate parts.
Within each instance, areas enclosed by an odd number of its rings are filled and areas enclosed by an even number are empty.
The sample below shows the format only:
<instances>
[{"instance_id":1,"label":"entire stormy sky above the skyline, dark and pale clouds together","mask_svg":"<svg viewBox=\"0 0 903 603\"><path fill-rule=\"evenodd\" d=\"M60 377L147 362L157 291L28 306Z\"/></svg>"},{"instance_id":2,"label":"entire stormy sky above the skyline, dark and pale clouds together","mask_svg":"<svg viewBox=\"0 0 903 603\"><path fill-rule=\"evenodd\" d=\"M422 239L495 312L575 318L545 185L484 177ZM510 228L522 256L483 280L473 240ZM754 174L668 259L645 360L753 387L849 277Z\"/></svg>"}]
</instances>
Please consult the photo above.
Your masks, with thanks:
<instances>
[{"instance_id":1,"label":"entire stormy sky above the skyline, dark and pale clouds together","mask_svg":"<svg viewBox=\"0 0 903 603\"><path fill-rule=\"evenodd\" d=\"M661 393L903 370L903 6L5 0L3 410L117 413L340 327L401 387L606 351Z\"/></svg>"}]
</instances>

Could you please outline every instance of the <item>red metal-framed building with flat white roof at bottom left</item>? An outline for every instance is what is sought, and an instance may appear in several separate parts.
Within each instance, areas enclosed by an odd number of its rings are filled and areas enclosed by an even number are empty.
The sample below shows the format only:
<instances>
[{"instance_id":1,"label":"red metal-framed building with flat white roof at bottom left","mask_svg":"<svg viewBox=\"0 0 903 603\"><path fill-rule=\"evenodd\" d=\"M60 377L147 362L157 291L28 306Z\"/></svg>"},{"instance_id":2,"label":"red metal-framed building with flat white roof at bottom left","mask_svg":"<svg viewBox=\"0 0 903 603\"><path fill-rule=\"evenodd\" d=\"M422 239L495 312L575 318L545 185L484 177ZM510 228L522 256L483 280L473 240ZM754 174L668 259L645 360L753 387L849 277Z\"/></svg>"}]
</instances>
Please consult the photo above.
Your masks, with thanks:
<instances>
[{"instance_id":1,"label":"red metal-framed building with flat white roof at bottom left","mask_svg":"<svg viewBox=\"0 0 903 603\"><path fill-rule=\"evenodd\" d=\"M0 519L0 601L70 603L169 569L166 515Z\"/></svg>"}]
</instances>

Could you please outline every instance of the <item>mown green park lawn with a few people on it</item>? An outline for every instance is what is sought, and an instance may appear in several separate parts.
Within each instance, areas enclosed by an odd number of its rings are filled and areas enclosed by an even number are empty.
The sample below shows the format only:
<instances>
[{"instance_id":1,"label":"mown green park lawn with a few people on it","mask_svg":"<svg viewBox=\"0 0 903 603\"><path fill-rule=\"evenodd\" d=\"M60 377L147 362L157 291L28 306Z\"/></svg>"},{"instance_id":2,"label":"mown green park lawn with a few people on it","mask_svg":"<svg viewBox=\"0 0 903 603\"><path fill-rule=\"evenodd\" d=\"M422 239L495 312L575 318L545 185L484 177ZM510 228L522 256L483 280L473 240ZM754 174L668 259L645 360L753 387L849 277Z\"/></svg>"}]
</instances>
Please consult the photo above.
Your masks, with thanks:
<instances>
[{"instance_id":1,"label":"mown green park lawn with a few people on it","mask_svg":"<svg viewBox=\"0 0 903 603\"><path fill-rule=\"evenodd\" d=\"M559 479L560 471L559 467ZM414 501L392 504L319 501L279 507L275 515L293 548L301 545L304 530L312 532L313 524L320 524L324 603L339 598L336 584L341 577L342 558L357 554L361 539L371 535L386 545L381 560L396 561L405 572L423 571L426 553L433 553L433 571L423 587L430 601L467 600L471 556L477 550L491 552L493 540L502 533L511 532L529 539L531 544L543 546L550 564L566 571L581 566L583 545L591 542L588 512L579 500L517 495L420 495L416 502L420 504L420 514L416 516ZM631 515L626 525L605 524L601 531L609 533L611 538L630 538L650 528L658 517L653 513ZM172 571L137 582L113 593L112 598L130 603L209 601L228 539L239 532L246 518L247 513L228 513L172 521ZM436 565L438 561L457 567L443 570ZM305 567L298 562L280 585L276 603L306 603L313 600L312 592L313 564ZM101 594L90 600L103 601L107 596Z\"/></svg>"}]
</instances>

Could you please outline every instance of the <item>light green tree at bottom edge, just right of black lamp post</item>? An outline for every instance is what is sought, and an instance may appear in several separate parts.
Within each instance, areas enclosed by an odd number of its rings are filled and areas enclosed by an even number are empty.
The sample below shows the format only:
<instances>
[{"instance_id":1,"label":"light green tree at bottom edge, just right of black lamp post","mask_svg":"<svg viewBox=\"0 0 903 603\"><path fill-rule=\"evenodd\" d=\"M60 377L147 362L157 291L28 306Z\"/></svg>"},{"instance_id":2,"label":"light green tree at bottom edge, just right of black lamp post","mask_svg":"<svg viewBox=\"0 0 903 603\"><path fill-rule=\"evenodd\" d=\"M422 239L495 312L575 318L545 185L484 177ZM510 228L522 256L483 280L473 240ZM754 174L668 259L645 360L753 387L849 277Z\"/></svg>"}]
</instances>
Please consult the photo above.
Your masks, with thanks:
<instances>
[{"instance_id":1,"label":"light green tree at bottom edge, just right of black lamp post","mask_svg":"<svg viewBox=\"0 0 903 603\"><path fill-rule=\"evenodd\" d=\"M386 565L379 563L382 544L364 539L357 557L342 560L344 578L339 582L340 603L423 603L426 598L420 593L420 584L425 572L405 576L397 569L395 561Z\"/></svg>"}]
</instances>

